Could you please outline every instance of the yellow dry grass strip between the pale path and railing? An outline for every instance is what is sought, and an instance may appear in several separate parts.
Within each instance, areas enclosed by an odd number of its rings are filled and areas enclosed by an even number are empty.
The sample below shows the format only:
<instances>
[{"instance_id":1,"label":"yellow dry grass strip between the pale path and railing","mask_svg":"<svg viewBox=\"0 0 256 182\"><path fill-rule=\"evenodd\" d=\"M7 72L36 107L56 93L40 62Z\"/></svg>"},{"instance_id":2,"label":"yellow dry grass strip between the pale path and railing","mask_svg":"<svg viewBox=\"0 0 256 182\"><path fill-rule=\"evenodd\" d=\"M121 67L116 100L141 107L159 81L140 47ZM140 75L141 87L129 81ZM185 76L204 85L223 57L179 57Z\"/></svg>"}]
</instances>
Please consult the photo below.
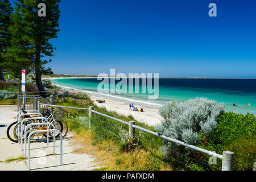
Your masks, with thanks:
<instances>
[{"instance_id":1,"label":"yellow dry grass strip between the pale path and railing","mask_svg":"<svg viewBox=\"0 0 256 182\"><path fill-rule=\"evenodd\" d=\"M152 158L149 151L136 148L133 151L123 152L118 150L117 144L104 140L101 143L94 144L93 135L87 130L79 134L73 134L73 153L90 154L96 158L96 163L103 168L100 170L155 170L171 171L172 168L165 164L159 163L158 159Z\"/></svg>"}]
</instances>

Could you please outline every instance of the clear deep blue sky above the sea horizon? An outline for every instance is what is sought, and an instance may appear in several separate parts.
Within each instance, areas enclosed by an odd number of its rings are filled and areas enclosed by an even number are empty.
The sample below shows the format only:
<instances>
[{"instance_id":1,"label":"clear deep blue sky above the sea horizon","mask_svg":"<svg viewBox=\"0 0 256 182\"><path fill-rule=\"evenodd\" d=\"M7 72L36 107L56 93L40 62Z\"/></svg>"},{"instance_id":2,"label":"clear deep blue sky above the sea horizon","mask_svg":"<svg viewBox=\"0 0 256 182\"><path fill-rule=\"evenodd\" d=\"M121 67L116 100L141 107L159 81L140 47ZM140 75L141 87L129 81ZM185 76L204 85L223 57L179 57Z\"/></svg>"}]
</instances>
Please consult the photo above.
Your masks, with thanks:
<instances>
[{"instance_id":1,"label":"clear deep blue sky above the sea horizon","mask_svg":"<svg viewBox=\"0 0 256 182\"><path fill-rule=\"evenodd\" d=\"M54 73L256 78L254 0L62 0L60 11Z\"/></svg>"}]
</instances>

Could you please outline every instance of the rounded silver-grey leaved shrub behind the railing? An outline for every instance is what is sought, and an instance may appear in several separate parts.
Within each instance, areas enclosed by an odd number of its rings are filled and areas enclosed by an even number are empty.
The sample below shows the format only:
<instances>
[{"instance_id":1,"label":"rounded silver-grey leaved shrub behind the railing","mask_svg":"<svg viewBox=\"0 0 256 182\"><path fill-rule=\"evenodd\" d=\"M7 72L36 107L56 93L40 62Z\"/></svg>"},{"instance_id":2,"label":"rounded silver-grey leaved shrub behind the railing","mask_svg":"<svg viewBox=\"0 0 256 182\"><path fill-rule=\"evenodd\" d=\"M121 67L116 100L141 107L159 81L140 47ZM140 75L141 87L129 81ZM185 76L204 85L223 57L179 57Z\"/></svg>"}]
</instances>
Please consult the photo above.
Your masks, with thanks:
<instances>
[{"instance_id":1,"label":"rounded silver-grey leaved shrub behind the railing","mask_svg":"<svg viewBox=\"0 0 256 182\"><path fill-rule=\"evenodd\" d=\"M208 98L195 98L184 102L169 101L159 109L163 121L155 130L167 137L181 140L188 144L197 144L199 134L208 136L217 126L216 119L224 113L224 104ZM177 145L163 140L163 152Z\"/></svg>"}]
</instances>

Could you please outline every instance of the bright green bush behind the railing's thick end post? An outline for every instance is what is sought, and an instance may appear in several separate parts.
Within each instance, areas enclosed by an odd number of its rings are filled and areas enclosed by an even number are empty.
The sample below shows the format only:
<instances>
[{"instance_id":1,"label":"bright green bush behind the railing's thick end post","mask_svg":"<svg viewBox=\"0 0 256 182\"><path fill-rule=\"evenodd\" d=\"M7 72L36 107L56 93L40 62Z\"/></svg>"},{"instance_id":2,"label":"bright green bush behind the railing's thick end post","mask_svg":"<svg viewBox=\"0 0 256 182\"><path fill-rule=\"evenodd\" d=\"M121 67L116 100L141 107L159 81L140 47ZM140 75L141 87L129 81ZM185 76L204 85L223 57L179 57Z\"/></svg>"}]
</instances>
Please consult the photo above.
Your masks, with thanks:
<instances>
[{"instance_id":1,"label":"bright green bush behind the railing's thick end post","mask_svg":"<svg viewBox=\"0 0 256 182\"><path fill-rule=\"evenodd\" d=\"M201 147L222 154L234 152L234 170L251 170L256 160L256 118L253 114L228 112L217 119L217 127Z\"/></svg>"}]
</instances>

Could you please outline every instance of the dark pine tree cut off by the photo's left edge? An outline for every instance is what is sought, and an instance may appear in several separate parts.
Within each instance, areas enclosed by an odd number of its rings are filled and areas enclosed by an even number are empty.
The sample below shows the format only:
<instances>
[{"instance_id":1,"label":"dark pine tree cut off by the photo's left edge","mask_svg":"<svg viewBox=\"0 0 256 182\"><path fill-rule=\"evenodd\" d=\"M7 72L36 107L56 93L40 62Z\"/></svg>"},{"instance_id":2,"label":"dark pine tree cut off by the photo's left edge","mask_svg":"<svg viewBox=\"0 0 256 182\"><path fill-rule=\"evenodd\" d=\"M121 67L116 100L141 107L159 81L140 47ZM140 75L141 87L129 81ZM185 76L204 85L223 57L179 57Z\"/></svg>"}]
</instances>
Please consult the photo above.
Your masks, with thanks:
<instances>
[{"instance_id":1,"label":"dark pine tree cut off by the photo's left edge","mask_svg":"<svg viewBox=\"0 0 256 182\"><path fill-rule=\"evenodd\" d=\"M5 81L3 78L3 68L5 67L6 59L4 53L6 48L10 46L11 34L8 31L10 26L10 16L13 8L9 0L0 0L0 81Z\"/></svg>"}]
</instances>

